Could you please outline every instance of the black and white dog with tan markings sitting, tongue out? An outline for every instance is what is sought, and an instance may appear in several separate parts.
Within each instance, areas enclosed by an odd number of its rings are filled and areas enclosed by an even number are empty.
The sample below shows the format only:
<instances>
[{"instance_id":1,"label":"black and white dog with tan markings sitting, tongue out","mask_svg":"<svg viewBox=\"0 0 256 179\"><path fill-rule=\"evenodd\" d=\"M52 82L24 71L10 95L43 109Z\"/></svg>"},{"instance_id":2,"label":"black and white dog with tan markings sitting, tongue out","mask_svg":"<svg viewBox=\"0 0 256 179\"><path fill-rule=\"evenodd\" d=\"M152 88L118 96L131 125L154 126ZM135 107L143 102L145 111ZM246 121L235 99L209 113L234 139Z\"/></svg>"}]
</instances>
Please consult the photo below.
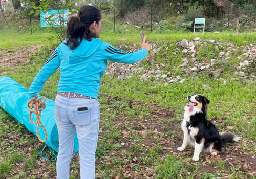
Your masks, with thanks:
<instances>
[{"instance_id":1,"label":"black and white dog with tan markings sitting, tongue out","mask_svg":"<svg viewBox=\"0 0 256 179\"><path fill-rule=\"evenodd\" d=\"M220 133L214 124L206 118L207 105L210 101L201 95L188 96L189 103L185 106L184 119L181 128L184 132L184 139L179 151L183 151L187 144L195 148L192 160L198 161L201 151L216 156L225 152L225 143L238 142L240 137L232 133Z\"/></svg>"}]
</instances>

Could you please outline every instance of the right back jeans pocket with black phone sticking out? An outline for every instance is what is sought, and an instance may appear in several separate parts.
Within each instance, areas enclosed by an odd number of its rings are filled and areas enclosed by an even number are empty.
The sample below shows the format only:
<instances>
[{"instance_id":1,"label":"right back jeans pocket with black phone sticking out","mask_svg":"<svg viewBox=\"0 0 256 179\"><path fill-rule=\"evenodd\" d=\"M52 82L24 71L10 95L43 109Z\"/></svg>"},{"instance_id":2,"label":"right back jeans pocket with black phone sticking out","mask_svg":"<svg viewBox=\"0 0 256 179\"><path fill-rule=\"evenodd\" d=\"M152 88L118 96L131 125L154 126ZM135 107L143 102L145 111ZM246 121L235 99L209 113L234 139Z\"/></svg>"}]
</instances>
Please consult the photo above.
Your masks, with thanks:
<instances>
[{"instance_id":1,"label":"right back jeans pocket with black phone sticking out","mask_svg":"<svg viewBox=\"0 0 256 179\"><path fill-rule=\"evenodd\" d=\"M73 111L76 124L86 126L91 123L91 109L82 111Z\"/></svg>"}]
</instances>

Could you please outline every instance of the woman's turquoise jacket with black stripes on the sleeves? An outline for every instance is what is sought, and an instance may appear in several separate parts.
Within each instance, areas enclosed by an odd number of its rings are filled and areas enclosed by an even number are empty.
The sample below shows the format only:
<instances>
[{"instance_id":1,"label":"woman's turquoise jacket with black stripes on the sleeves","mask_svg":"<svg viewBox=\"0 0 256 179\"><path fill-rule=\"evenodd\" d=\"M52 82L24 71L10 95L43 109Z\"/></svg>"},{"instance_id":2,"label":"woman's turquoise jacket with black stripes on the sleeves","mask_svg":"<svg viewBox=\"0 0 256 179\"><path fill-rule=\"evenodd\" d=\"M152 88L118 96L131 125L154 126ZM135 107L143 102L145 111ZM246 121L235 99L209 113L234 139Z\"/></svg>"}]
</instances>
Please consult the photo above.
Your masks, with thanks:
<instances>
[{"instance_id":1,"label":"woman's turquoise jacket with black stripes on the sleeves","mask_svg":"<svg viewBox=\"0 0 256 179\"><path fill-rule=\"evenodd\" d=\"M59 92L75 92L98 98L100 78L103 76L107 60L121 63L136 63L147 56L147 50L137 52L120 51L111 44L92 38L83 39L72 50L63 41L46 61L32 82L28 100L36 96L44 87L45 81L60 68Z\"/></svg>"}]
</instances>

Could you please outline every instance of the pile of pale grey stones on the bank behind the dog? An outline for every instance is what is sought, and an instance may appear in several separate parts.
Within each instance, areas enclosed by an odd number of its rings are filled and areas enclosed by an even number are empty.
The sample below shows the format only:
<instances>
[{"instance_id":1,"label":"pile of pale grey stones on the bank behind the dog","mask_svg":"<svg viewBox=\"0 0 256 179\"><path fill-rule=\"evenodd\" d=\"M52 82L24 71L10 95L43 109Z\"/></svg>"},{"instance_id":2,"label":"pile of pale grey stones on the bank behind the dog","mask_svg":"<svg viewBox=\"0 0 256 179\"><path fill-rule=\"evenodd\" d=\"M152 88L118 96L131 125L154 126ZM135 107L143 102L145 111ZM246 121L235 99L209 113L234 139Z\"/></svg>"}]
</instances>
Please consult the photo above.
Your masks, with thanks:
<instances>
[{"instance_id":1,"label":"pile of pale grey stones on the bank behind the dog","mask_svg":"<svg viewBox=\"0 0 256 179\"><path fill-rule=\"evenodd\" d=\"M196 58L196 53L205 46L206 44L211 43L214 45L214 48L216 52L218 52L219 59L211 59L210 62L208 61L202 61L199 62ZM153 58L158 53L161 53L164 50L168 50L167 48L164 49L160 46L161 43L156 42L152 43L152 50L150 53L149 58ZM223 72L224 68L219 65L221 63L225 63L225 61L230 60L230 54L232 54L235 51L242 50L240 56L237 58L241 60L239 63L239 66L236 67L237 72L234 73L234 79L237 78L244 78L250 81L255 80L255 76L248 74L247 71L251 72L254 68L255 72L255 64L256 64L256 46L253 43L248 43L246 46L239 46L236 47L232 43L228 43L223 45L221 41L216 41L212 39L207 40L201 40L199 37L193 39L193 40L186 40L183 39L181 41L178 41L176 43L177 48L176 50L182 50L183 55L185 58L183 58L183 64L180 65L180 70L185 72L184 76L173 76L171 69L170 71L166 72L165 64L160 63L156 64L156 67L154 69L145 70L141 66L141 62L135 63L135 64L123 64L123 63L111 63L108 65L108 68L106 70L106 74L109 74L111 76L117 76L118 79L125 79L125 78L131 78L133 74L137 73L143 73L140 76L140 80L150 80L150 78L154 78L154 80L159 82L164 82L166 85L168 83L173 82L179 82L183 83L185 81L185 78L190 76L190 74L198 73L199 71L204 72L206 75L210 75L212 77L218 77ZM181 48L181 49L180 49ZM227 52L222 52L219 49L225 49ZM173 52L173 55L177 55L177 51ZM192 66L191 66L192 64ZM217 68L214 68L214 65L216 64ZM253 65L254 64L254 65ZM248 70L249 69L249 70Z\"/></svg>"}]
</instances>

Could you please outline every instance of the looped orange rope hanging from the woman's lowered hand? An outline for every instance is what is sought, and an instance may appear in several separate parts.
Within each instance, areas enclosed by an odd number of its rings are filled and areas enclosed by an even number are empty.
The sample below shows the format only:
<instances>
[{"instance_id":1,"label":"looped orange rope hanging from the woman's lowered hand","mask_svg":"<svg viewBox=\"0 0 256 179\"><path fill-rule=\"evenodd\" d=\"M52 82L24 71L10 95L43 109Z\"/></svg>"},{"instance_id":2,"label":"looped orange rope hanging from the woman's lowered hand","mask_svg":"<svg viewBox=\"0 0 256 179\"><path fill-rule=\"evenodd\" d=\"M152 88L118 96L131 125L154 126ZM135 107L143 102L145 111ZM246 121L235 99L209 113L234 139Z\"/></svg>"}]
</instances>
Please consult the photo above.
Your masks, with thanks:
<instances>
[{"instance_id":1,"label":"looped orange rope hanging from the woman's lowered hand","mask_svg":"<svg viewBox=\"0 0 256 179\"><path fill-rule=\"evenodd\" d=\"M36 128L36 134L37 134L37 138L40 142L46 142L47 140L47 132L46 132L46 128L44 125L42 125L41 123L41 111L39 110L38 113L38 108L42 107L44 108L46 106L45 102L46 102L46 97L41 97L39 99L36 100L36 103L34 103L34 99L37 98L37 96L35 96L34 98L32 98L31 100L29 100L28 102L28 107L29 107L29 120L32 124L37 124L37 128ZM42 101L42 99L44 99L44 101ZM34 110L32 110L34 108ZM32 113L35 113L35 116L37 118L36 122L33 122L31 119L31 115ZM39 125L41 125L42 129L44 129L45 131L45 140L42 140L39 136Z\"/></svg>"}]
</instances>

